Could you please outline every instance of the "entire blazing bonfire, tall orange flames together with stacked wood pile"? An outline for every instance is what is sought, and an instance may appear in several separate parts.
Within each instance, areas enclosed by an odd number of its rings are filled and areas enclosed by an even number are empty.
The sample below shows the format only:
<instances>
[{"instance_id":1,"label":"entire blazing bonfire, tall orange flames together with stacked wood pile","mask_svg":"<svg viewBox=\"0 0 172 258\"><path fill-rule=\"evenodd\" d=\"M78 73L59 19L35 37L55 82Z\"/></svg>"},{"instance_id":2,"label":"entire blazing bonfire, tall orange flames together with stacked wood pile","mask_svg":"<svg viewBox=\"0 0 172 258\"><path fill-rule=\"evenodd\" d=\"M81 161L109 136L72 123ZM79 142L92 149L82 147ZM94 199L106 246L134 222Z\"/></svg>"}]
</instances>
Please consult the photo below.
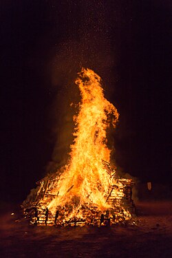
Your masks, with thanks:
<instances>
[{"instance_id":1,"label":"entire blazing bonfire, tall orange flames together with stacked wood pile","mask_svg":"<svg viewBox=\"0 0 172 258\"><path fill-rule=\"evenodd\" d=\"M36 196L23 211L36 225L84 226L134 224L132 180L119 178L110 163L106 131L116 127L118 111L104 97L100 77L82 69L81 94L70 161L37 182ZM105 161L106 160L106 161Z\"/></svg>"}]
</instances>

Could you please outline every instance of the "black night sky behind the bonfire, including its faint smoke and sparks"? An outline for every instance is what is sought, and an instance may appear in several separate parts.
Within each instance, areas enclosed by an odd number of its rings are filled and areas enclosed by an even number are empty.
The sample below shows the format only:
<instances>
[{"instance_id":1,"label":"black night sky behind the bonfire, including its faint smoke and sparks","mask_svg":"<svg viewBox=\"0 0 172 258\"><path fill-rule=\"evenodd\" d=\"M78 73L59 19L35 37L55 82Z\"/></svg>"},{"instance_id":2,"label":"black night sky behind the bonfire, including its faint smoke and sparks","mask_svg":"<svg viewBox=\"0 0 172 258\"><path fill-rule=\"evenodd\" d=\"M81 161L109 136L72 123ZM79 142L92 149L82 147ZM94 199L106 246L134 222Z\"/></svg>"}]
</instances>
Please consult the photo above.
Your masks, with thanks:
<instances>
[{"instance_id":1,"label":"black night sky behind the bonfire, including its faint smoke and sparks","mask_svg":"<svg viewBox=\"0 0 172 258\"><path fill-rule=\"evenodd\" d=\"M72 143L74 79L103 78L118 169L171 183L171 1L1 1L1 198L22 202Z\"/></svg>"}]
</instances>

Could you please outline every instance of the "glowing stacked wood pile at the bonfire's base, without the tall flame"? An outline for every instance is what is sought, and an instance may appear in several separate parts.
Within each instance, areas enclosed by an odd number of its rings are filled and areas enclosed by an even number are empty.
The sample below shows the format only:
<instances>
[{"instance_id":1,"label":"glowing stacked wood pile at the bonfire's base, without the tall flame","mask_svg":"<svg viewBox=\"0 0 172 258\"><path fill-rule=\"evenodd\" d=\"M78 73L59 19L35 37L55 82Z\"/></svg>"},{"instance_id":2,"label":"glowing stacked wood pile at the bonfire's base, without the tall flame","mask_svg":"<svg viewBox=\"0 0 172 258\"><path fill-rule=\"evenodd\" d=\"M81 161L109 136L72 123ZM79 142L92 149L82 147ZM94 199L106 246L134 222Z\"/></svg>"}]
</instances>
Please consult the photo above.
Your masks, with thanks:
<instances>
[{"instance_id":1,"label":"glowing stacked wood pile at the bonfire's base, without the tall flame","mask_svg":"<svg viewBox=\"0 0 172 258\"><path fill-rule=\"evenodd\" d=\"M104 162L107 173L113 177L114 169L107 162ZM136 225L135 205L132 200L132 187L134 182L131 179L118 178L116 184L111 185L107 194L106 203L108 209L100 211L96 204L85 203L77 206L66 204L57 206L53 213L45 206L48 200L53 200L54 195L51 189L57 180L56 175L43 178L36 184L37 194L35 200L24 202L23 213L30 224L36 226L112 226L112 225ZM45 187L44 187L45 186ZM116 195L118 189L118 195ZM69 218L70 213L75 213ZM77 213L82 214L81 217Z\"/></svg>"}]
</instances>

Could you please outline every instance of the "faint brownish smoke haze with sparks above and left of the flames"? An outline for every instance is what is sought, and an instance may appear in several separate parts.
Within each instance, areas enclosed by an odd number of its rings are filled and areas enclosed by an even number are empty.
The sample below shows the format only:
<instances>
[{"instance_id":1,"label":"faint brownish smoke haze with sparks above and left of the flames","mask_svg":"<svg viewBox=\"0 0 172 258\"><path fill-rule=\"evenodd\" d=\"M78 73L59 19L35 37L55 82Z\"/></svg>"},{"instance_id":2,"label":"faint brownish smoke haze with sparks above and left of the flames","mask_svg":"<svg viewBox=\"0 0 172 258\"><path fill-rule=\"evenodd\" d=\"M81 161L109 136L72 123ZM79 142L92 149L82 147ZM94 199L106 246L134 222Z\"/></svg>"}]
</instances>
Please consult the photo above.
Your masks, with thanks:
<instances>
[{"instance_id":1,"label":"faint brownish smoke haze with sparks above and left of the flames","mask_svg":"<svg viewBox=\"0 0 172 258\"><path fill-rule=\"evenodd\" d=\"M104 89L113 93L114 56L109 39L109 22L104 1L78 1L78 13L69 1L65 39L56 45L56 55L50 61L50 92L54 94L50 107L51 142L54 144L52 160L47 171L63 166L68 159L74 131L73 116L80 101L80 93L74 83L81 67L89 67L103 78ZM63 6L64 8L64 6ZM109 80L110 78L110 80ZM111 87L109 87L109 85Z\"/></svg>"}]
</instances>

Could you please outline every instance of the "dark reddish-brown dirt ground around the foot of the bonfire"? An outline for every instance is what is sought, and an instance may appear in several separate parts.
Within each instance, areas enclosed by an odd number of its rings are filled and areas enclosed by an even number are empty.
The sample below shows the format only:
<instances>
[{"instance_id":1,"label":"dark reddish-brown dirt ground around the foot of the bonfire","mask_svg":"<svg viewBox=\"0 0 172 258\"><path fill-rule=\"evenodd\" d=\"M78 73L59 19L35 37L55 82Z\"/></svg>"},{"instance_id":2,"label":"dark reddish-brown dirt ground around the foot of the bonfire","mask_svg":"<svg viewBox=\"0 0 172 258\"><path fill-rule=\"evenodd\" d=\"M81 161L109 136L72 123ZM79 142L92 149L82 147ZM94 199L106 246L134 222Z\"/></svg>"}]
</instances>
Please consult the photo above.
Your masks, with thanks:
<instances>
[{"instance_id":1,"label":"dark reddish-brown dirt ground around the foot of the bonfire","mask_svg":"<svg viewBox=\"0 0 172 258\"><path fill-rule=\"evenodd\" d=\"M172 257L172 202L138 202L137 226L54 228L1 215L0 257Z\"/></svg>"}]
</instances>

